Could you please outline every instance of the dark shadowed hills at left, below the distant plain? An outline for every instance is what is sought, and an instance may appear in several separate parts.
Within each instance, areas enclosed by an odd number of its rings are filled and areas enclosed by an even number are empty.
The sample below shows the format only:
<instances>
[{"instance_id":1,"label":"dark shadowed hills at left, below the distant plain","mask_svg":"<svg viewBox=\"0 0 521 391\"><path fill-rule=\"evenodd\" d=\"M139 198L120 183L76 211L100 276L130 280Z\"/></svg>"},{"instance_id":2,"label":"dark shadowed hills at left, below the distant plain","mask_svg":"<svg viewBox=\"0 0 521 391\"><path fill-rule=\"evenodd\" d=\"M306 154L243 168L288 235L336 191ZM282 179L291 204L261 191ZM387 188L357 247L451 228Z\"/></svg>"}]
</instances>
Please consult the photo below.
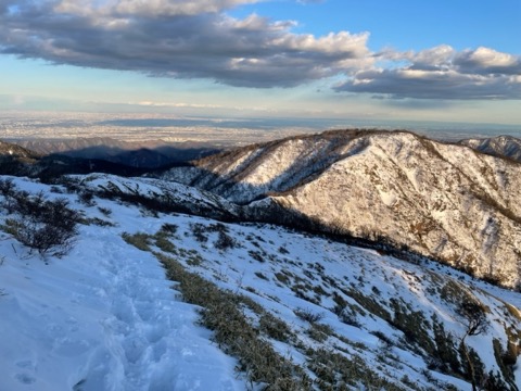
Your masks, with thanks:
<instances>
[{"instance_id":1,"label":"dark shadowed hills at left, below the distant plain","mask_svg":"<svg viewBox=\"0 0 521 391\"><path fill-rule=\"evenodd\" d=\"M218 151L204 143L126 142L112 138L0 141L0 174L42 178L92 172L138 176Z\"/></svg>"}]
</instances>

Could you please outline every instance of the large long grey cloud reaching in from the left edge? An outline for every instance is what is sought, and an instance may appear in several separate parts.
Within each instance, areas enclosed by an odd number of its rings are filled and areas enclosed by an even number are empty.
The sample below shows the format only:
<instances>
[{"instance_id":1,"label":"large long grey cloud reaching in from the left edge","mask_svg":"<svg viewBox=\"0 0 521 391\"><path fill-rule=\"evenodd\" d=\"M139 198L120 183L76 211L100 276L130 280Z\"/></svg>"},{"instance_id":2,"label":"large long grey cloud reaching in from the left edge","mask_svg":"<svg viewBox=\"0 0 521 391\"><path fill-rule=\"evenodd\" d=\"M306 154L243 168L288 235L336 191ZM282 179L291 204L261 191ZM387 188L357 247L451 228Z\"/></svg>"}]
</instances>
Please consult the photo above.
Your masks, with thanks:
<instances>
[{"instance_id":1,"label":"large long grey cloud reaching in from the left edge","mask_svg":"<svg viewBox=\"0 0 521 391\"><path fill-rule=\"evenodd\" d=\"M291 21L223 12L256 1L0 0L0 52L257 88L297 86L373 61L367 33L316 37L292 33Z\"/></svg>"}]
</instances>

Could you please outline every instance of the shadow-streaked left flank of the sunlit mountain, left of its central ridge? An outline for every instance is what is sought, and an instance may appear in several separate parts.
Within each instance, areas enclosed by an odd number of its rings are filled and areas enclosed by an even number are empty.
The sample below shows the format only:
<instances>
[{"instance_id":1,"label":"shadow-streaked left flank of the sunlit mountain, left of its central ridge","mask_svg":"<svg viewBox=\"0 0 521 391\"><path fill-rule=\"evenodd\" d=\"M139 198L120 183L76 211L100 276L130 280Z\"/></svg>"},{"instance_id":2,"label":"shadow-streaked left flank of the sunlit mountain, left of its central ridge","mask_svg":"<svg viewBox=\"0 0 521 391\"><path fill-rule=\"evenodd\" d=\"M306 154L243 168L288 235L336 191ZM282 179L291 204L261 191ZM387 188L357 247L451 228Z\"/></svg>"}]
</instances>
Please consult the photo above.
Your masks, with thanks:
<instances>
[{"instance_id":1,"label":"shadow-streaked left flank of the sunlit mountain, left of its central ridge","mask_svg":"<svg viewBox=\"0 0 521 391\"><path fill-rule=\"evenodd\" d=\"M363 151L368 134L381 131L328 131L254 144L199 160L192 167L171 168L161 178L246 204L270 192L287 191Z\"/></svg>"}]
</instances>

